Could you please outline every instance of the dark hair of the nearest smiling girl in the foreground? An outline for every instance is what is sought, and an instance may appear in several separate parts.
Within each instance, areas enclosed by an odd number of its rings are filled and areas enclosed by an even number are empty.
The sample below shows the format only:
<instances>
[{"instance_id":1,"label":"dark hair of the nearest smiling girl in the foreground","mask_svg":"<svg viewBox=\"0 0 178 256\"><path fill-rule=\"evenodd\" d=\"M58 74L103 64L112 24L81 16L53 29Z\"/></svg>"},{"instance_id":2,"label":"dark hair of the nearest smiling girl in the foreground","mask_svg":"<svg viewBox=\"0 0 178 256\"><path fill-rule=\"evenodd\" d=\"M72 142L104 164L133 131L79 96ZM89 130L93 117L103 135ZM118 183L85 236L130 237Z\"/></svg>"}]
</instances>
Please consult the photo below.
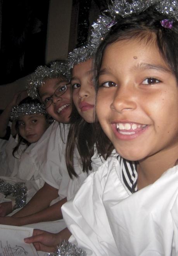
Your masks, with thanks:
<instances>
[{"instance_id":1,"label":"dark hair of the nearest smiling girl in the foreground","mask_svg":"<svg viewBox=\"0 0 178 256\"><path fill-rule=\"evenodd\" d=\"M154 10L154 6L129 18L116 17L117 23L112 26L111 31L100 44L94 60L94 78L96 91L98 91L98 73L100 71L102 56L106 47L121 40L145 40L145 42L155 42L164 61L175 75L178 83L178 21L173 21L173 28L168 29L161 26L160 21L170 19ZM114 147L102 131L99 123L96 122L96 146L98 153L103 157L111 154ZM105 145L109 144L109 148Z\"/></svg>"}]
</instances>

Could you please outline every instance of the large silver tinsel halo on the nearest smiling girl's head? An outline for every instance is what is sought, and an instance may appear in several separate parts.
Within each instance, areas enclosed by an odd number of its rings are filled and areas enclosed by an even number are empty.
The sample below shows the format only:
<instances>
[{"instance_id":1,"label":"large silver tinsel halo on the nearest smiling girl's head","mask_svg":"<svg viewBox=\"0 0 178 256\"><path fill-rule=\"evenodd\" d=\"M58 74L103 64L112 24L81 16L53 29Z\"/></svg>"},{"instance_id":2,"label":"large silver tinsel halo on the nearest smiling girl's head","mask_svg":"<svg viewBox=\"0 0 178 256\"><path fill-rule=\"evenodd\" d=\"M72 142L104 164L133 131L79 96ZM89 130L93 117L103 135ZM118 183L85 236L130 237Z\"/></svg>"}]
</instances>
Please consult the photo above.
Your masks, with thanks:
<instances>
[{"instance_id":1,"label":"large silver tinsel halo on the nearest smiling girl's head","mask_svg":"<svg viewBox=\"0 0 178 256\"><path fill-rule=\"evenodd\" d=\"M107 10L99 16L97 22L92 25L91 47L96 48L101 40L105 38L111 27L117 23L117 16L130 17L133 14L140 14L149 7L171 19L178 20L178 0L115 0Z\"/></svg>"}]
</instances>

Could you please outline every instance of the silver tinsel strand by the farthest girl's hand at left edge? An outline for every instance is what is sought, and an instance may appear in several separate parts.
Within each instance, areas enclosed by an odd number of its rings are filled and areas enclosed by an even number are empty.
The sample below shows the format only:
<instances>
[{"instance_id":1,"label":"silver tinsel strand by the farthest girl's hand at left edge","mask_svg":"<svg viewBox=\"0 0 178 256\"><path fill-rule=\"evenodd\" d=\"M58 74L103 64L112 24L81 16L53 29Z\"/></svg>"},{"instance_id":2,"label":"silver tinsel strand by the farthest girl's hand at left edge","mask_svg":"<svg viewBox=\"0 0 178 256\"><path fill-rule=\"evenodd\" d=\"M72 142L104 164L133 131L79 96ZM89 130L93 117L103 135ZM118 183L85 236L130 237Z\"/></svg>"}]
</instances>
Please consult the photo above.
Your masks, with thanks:
<instances>
[{"instance_id":1,"label":"silver tinsel strand by the farthest girl's hand at left edge","mask_svg":"<svg viewBox=\"0 0 178 256\"><path fill-rule=\"evenodd\" d=\"M21 208L26 205L27 187L25 183L18 182L12 185L0 179L0 193L4 195L13 195L16 199L16 204L13 209Z\"/></svg>"}]
</instances>

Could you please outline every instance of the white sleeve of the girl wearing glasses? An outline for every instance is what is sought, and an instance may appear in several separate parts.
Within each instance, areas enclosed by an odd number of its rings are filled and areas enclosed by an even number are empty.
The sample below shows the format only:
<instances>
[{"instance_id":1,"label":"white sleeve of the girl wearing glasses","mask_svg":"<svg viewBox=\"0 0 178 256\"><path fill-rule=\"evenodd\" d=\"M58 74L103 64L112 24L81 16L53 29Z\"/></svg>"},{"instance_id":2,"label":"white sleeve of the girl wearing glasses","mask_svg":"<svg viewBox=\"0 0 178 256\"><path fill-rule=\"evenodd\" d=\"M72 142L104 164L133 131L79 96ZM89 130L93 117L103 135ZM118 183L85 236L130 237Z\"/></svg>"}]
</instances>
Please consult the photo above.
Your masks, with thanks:
<instances>
[{"instance_id":1,"label":"white sleeve of the girl wearing glasses","mask_svg":"<svg viewBox=\"0 0 178 256\"><path fill-rule=\"evenodd\" d=\"M50 186L59 190L60 199L66 197L69 183L65 160L67 133L67 125L62 126L60 130L59 123L55 122L31 150L33 163L41 177Z\"/></svg>"}]
</instances>

